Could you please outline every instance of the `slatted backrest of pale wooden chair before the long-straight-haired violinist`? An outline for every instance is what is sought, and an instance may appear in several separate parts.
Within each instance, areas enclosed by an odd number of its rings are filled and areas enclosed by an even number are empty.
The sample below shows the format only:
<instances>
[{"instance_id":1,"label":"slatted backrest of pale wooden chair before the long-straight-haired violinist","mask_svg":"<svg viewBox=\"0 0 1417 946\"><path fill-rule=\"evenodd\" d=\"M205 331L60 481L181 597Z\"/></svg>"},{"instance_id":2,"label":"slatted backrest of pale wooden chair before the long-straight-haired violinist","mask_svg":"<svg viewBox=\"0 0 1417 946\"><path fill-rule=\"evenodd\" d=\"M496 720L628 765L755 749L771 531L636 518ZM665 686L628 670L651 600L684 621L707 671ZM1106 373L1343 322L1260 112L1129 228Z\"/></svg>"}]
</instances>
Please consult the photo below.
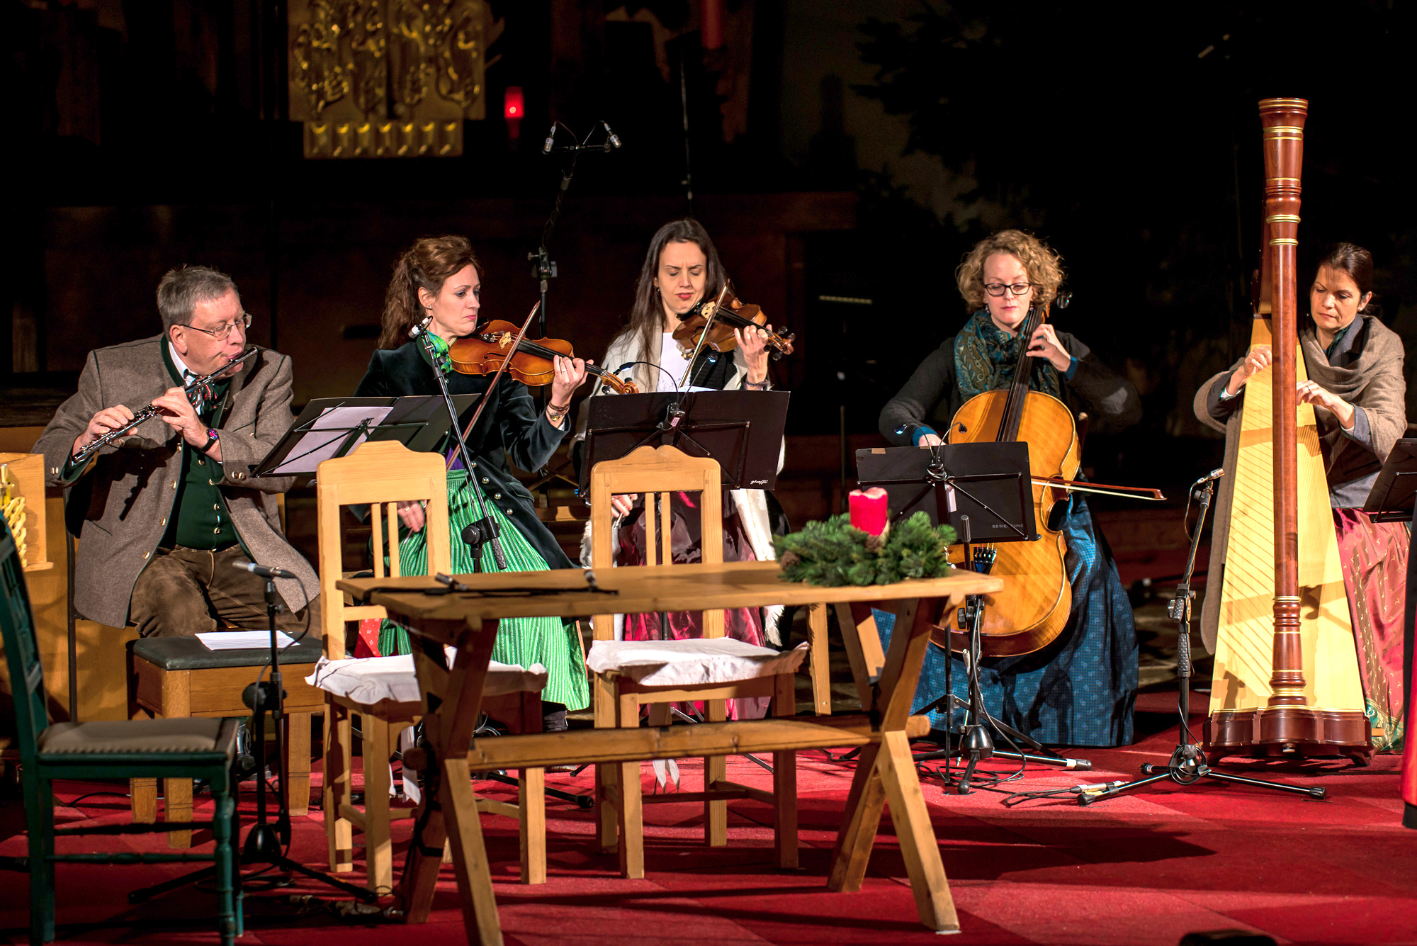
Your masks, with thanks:
<instances>
[{"instance_id":1,"label":"slatted backrest of pale wooden chair before the long-straight-haired violinist","mask_svg":"<svg viewBox=\"0 0 1417 946\"><path fill-rule=\"evenodd\" d=\"M670 497L674 493L699 493L699 534L701 561L723 561L723 486L718 460L689 456L673 446L642 446L618 460L602 460L591 469L591 565L611 568L611 497L639 493L645 497L645 564L669 565ZM657 520L657 523L656 523ZM597 640L614 637L608 615L592 620ZM723 637L723 610L706 610L704 637Z\"/></svg>"}]
</instances>

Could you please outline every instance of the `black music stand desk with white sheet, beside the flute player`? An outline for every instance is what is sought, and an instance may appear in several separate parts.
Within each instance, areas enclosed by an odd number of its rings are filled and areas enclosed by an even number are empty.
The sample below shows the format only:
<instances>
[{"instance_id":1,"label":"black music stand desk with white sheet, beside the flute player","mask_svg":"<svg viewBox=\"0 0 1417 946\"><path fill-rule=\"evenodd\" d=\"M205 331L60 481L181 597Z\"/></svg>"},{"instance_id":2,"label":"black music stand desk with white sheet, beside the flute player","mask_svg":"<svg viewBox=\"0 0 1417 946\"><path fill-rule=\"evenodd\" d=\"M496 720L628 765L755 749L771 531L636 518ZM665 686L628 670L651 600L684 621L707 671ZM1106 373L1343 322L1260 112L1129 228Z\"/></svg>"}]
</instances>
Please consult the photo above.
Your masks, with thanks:
<instances>
[{"instance_id":1,"label":"black music stand desk with white sheet, beside the flute player","mask_svg":"<svg viewBox=\"0 0 1417 946\"><path fill-rule=\"evenodd\" d=\"M480 397L455 395L459 416ZM442 442L451 423L441 397L317 398L305 405L251 474L313 474L322 460L346 456L364 440L398 440L414 453L428 453Z\"/></svg>"}]
</instances>

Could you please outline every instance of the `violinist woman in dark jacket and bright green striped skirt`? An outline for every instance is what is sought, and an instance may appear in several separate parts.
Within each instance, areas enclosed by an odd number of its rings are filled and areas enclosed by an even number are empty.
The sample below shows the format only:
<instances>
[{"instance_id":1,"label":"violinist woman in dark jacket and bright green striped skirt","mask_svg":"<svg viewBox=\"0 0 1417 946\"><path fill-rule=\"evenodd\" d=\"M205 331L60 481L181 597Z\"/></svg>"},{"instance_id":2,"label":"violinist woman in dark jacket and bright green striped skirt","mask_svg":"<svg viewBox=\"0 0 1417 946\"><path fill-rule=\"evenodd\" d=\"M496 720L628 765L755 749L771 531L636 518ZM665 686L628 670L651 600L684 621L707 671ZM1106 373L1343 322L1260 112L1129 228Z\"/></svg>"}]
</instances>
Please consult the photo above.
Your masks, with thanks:
<instances>
[{"instance_id":1,"label":"violinist woman in dark jacket and bright green striped skirt","mask_svg":"<svg viewBox=\"0 0 1417 946\"><path fill-rule=\"evenodd\" d=\"M554 381L546 409L538 409L531 392L520 381L503 375L495 389L490 377L451 371L449 346L478 327L482 307L482 272L472 244L463 236L425 236L414 244L394 266L394 278L384 299L383 334L370 358L368 371L356 389L357 397L438 395L444 371L452 394L482 394L489 399L476 429L468 435L468 453L475 481L466 484L468 470L455 460L448 472L448 514L452 531L452 569L469 574L472 552L461 540L463 527L476 518L472 490L480 489L482 508L500 525L502 548L509 571L571 568L547 527L536 517L531 494L507 469L507 460L523 470L536 470L551 459L570 429L567 412L571 392L585 381L585 363L580 358L554 360ZM429 360L424 346L410 338L410 330L428 321L428 337L438 351L441 367ZM466 423L466 418L463 422ZM444 445L455 456L452 440ZM421 574L425 564L424 511L417 503L401 503L398 517L400 557L404 574ZM483 548L482 571L496 571L492 551ZM565 728L565 710L589 705L585 664L578 630L558 617L529 617L502 622L502 632L492 659L530 667L540 663L550 673L543 707L548 729ZM385 622L380 633L384 654L407 653L408 639Z\"/></svg>"}]
</instances>

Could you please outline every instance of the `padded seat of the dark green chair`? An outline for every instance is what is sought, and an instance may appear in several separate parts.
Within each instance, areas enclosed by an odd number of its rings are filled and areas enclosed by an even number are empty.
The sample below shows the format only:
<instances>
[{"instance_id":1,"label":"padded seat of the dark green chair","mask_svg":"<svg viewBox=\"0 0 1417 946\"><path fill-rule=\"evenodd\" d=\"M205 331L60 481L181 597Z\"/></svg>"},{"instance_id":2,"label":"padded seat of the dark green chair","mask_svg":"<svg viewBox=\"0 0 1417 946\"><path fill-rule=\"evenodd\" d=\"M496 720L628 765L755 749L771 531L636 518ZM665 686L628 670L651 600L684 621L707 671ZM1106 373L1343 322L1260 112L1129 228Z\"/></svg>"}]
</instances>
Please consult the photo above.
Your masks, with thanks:
<instances>
[{"instance_id":1,"label":"padded seat of the dark green chair","mask_svg":"<svg viewBox=\"0 0 1417 946\"><path fill-rule=\"evenodd\" d=\"M217 755L228 760L237 748L235 719L120 719L51 722L40 734L40 759L84 753ZM81 762L81 759L71 759ZM111 759L105 759L109 762Z\"/></svg>"}]
</instances>

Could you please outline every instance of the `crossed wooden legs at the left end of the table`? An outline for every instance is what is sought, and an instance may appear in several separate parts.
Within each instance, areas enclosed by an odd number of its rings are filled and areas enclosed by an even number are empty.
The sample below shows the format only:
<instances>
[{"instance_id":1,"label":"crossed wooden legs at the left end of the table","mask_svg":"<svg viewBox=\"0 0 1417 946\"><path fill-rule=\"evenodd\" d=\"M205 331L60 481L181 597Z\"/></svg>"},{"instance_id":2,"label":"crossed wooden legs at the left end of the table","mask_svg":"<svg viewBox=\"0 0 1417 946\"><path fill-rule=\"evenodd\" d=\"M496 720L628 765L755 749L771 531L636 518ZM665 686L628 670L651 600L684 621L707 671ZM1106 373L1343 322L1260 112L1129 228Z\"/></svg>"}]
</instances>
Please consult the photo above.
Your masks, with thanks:
<instances>
[{"instance_id":1,"label":"crossed wooden legs at the left end of the table","mask_svg":"<svg viewBox=\"0 0 1417 946\"><path fill-rule=\"evenodd\" d=\"M421 622L421 627L431 634L431 640L415 639L414 667L419 670L418 683L422 690L424 704L424 736L428 739L431 752L428 753L428 768L425 769L424 802L419 806L418 820L415 820L414 837L408 845L408 861L400 881L400 894L407 909L405 918L410 923L428 922L432 911L434 891L438 885L438 867L442 864L442 847L448 840L448 823L445 817L452 817L455 804L463 807L458 811L461 820L458 826L472 824L473 827L458 827L461 833L459 848L453 845L453 867L458 871L459 888L465 882L465 865L469 858L486 864L486 850L482 845L482 827L478 824L478 799L468 785L468 746L472 743L472 729L478 724L478 712L482 707L482 688L487 680L487 661L492 659L492 646L497 639L497 622L483 622L480 630L472 630L465 622L439 620ZM442 646L432 643L436 639L458 640L458 659L452 670L446 673L446 690L432 693L424 681L444 678ZM424 647L422 644L428 644ZM436 661L436 663L434 663ZM434 673L436 670L436 673ZM448 768L444 760L463 760L463 783L451 786ZM421 824L422 827L417 827ZM490 879L483 887L486 898L492 899ZM472 901L466 896L463 904L472 911ZM483 939L482 926L490 923L496 932L496 912L483 911L482 923L473 922L468 913L468 939L473 943L500 943L502 935L495 939Z\"/></svg>"}]
</instances>

